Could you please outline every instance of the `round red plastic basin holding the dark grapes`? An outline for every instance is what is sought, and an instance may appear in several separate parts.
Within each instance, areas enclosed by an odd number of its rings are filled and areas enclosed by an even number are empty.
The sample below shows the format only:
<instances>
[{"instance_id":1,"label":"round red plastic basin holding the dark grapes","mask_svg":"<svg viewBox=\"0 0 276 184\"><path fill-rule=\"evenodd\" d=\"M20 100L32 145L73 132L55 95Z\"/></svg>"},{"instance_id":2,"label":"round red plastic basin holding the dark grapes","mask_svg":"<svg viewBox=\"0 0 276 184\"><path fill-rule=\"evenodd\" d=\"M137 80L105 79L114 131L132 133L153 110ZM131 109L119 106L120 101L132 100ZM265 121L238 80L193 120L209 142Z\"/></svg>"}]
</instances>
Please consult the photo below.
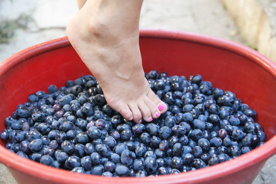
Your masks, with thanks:
<instances>
[{"instance_id":1,"label":"round red plastic basin holding the dark grapes","mask_svg":"<svg viewBox=\"0 0 276 184\"><path fill-rule=\"evenodd\" d=\"M186 32L141 30L145 72L200 74L256 109L266 143L236 159L194 172L159 177L107 178L59 170L20 157L0 141L0 162L18 183L251 183L276 152L276 64L243 45ZM66 37L25 49L0 63L0 131L19 103L38 90L89 74Z\"/></svg>"}]
</instances>

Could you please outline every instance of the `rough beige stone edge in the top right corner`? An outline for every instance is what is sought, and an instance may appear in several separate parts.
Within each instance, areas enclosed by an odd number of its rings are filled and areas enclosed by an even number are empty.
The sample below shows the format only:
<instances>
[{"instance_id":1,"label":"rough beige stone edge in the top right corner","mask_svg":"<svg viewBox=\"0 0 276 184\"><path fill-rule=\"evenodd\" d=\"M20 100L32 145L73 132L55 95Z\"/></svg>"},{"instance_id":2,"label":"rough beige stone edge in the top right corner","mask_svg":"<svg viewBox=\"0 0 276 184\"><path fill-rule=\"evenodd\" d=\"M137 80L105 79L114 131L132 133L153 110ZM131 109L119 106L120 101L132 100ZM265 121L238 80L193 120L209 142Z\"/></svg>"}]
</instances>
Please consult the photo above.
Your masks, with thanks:
<instances>
[{"instance_id":1,"label":"rough beige stone edge in the top right corner","mask_svg":"<svg viewBox=\"0 0 276 184\"><path fill-rule=\"evenodd\" d=\"M233 17L241 35L258 52L276 62L276 1L220 0Z\"/></svg>"}]
</instances>

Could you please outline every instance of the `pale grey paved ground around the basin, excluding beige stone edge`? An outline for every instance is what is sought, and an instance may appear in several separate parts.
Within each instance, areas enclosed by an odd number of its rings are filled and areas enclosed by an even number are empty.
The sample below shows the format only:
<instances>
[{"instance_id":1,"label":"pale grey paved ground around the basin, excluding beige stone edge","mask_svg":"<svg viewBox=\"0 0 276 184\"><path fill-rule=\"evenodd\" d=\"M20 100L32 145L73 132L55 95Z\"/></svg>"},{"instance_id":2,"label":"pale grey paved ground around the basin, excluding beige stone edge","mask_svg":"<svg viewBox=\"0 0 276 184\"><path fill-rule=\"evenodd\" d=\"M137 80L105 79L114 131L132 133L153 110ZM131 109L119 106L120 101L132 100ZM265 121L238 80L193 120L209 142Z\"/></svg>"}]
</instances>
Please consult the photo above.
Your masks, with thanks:
<instances>
[{"instance_id":1,"label":"pale grey paved ground around the basin, excluding beige stone edge","mask_svg":"<svg viewBox=\"0 0 276 184\"><path fill-rule=\"evenodd\" d=\"M15 28L14 36L8 43L0 43L0 62L31 45L65 36L67 21L77 11L75 0L21 0L13 3L10 0L0 0L0 25L5 20L23 18L27 21L26 29ZM219 0L145 1L141 13L141 28L191 31L246 44ZM254 184L275 183L275 175L274 156L269 159ZM1 164L0 183L16 183Z\"/></svg>"}]
</instances>

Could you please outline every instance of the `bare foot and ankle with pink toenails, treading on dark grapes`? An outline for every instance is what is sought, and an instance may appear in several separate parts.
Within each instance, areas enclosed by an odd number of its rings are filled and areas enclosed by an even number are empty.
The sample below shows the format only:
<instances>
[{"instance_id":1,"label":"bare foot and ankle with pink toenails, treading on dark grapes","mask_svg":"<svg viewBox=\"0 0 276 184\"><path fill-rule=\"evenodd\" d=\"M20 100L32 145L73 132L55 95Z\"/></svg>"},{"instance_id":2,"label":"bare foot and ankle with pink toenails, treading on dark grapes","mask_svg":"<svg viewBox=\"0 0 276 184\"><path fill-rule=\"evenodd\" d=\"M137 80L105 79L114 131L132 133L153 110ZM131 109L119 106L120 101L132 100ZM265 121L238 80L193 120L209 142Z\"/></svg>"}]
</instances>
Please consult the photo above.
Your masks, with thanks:
<instances>
[{"instance_id":1,"label":"bare foot and ankle with pink toenails, treading on dark grapes","mask_svg":"<svg viewBox=\"0 0 276 184\"><path fill-rule=\"evenodd\" d=\"M88 0L67 25L67 36L98 80L107 103L127 120L150 122L167 106L151 90L142 67L142 1Z\"/></svg>"}]
</instances>

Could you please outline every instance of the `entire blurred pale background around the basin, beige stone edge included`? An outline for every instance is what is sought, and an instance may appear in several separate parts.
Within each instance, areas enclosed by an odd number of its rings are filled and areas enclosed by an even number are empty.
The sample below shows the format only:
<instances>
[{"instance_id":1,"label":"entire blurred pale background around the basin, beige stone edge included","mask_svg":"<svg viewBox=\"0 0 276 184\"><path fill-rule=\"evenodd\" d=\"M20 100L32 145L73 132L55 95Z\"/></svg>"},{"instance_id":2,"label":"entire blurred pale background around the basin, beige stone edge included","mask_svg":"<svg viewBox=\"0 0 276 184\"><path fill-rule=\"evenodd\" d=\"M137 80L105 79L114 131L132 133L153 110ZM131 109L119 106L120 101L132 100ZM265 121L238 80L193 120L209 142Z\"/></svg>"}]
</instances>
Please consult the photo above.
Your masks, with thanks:
<instances>
[{"instance_id":1,"label":"entire blurred pale background around the basin, beige stone edge included","mask_svg":"<svg viewBox=\"0 0 276 184\"><path fill-rule=\"evenodd\" d=\"M34 44L66 36L77 0L0 0L0 62ZM145 0L141 29L189 31L235 41L276 62L276 0ZM0 164L0 183L16 184ZM276 156L254 184L276 183Z\"/></svg>"}]
</instances>

